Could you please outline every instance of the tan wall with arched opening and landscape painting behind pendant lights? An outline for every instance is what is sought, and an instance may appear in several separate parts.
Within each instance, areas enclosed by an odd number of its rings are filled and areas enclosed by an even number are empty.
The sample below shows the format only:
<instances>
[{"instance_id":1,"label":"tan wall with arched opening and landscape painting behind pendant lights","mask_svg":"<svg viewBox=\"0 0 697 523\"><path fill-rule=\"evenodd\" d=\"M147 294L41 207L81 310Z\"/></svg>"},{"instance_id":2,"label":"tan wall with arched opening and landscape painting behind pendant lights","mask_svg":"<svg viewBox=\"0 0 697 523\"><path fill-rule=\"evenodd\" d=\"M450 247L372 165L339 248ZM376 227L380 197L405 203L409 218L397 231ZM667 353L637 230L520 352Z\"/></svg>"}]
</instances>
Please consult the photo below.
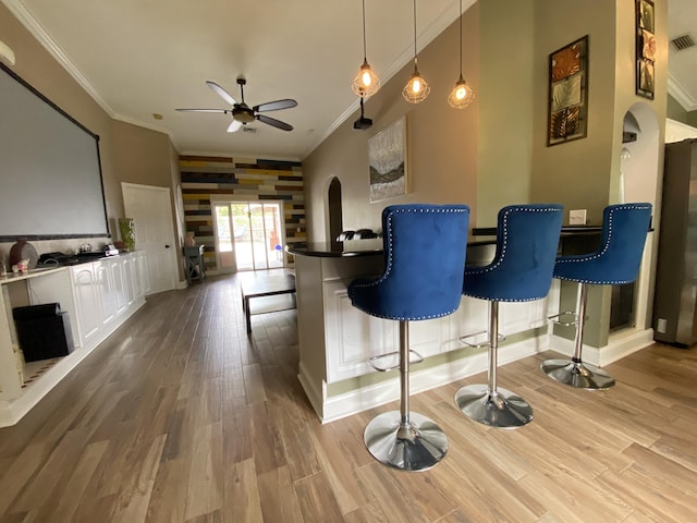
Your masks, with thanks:
<instances>
[{"instance_id":1,"label":"tan wall with arched opening and landscape painting behind pendant lights","mask_svg":"<svg viewBox=\"0 0 697 523\"><path fill-rule=\"evenodd\" d=\"M477 5L465 13L463 23L463 73L478 93ZM458 38L455 23L419 52L419 71L431 86L424 102L411 105L402 98L402 87L413 70L408 63L366 102L372 127L353 130L356 112L303 160L309 241L327 238L326 202L333 177L341 181L344 229L380 229L380 214L387 205L417 202L468 204L474 221L479 106L475 100L457 110L447 101L460 72ZM403 114L407 118L408 194L370 204L367 141Z\"/></svg>"}]
</instances>

